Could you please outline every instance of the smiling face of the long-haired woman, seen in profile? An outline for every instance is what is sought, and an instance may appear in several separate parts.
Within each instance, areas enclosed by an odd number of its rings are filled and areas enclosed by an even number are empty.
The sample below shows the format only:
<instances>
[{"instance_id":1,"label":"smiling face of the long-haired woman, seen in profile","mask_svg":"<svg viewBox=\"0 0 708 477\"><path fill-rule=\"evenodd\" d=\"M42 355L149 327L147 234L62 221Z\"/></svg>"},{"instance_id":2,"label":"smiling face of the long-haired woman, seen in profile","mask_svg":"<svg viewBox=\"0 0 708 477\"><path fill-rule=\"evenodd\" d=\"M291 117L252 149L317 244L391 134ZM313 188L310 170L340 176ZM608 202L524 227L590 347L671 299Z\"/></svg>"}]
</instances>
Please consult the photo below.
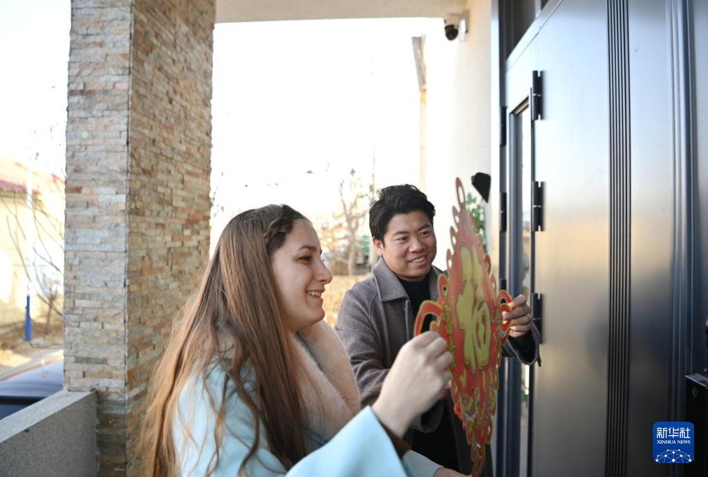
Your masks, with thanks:
<instances>
[{"instance_id":1,"label":"smiling face of the long-haired woman, seen in profile","mask_svg":"<svg viewBox=\"0 0 708 477\"><path fill-rule=\"evenodd\" d=\"M332 274L322 262L321 253L312 224L298 219L282 246L270 256L285 327L292 333L324 318L321 295Z\"/></svg>"}]
</instances>

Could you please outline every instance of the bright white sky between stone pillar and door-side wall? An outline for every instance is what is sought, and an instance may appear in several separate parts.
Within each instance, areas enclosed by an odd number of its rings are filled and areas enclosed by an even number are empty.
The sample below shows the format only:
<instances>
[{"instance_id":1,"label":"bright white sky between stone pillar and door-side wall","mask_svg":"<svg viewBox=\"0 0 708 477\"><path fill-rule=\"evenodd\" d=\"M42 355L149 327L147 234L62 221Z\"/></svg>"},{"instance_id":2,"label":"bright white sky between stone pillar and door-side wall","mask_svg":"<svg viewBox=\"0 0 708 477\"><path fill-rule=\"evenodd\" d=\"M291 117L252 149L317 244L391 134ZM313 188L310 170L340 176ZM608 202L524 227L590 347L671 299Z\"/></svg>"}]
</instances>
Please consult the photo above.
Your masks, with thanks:
<instances>
[{"instance_id":1,"label":"bright white sky between stone pillar and door-side wall","mask_svg":"<svg viewBox=\"0 0 708 477\"><path fill-rule=\"evenodd\" d=\"M439 23L217 25L212 186L223 219L269 202L314 218L336 203L351 168L371 176L374 155L377 185L418 183L410 166L420 154L411 38Z\"/></svg>"}]
</instances>

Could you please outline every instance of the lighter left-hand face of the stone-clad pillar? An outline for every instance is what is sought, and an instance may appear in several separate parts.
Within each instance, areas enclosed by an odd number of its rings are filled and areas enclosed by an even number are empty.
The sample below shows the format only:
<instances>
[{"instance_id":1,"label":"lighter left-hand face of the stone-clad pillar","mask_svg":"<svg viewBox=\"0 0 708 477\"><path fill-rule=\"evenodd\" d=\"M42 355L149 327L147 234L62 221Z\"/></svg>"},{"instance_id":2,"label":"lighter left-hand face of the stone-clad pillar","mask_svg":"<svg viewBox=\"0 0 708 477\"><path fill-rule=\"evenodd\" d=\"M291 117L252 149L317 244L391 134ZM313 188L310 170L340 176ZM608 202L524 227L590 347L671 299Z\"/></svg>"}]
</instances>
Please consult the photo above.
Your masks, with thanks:
<instances>
[{"instance_id":1,"label":"lighter left-hand face of the stone-clad pillar","mask_svg":"<svg viewBox=\"0 0 708 477\"><path fill-rule=\"evenodd\" d=\"M64 384L98 390L103 475L125 467L130 1L72 4Z\"/></svg>"}]
</instances>

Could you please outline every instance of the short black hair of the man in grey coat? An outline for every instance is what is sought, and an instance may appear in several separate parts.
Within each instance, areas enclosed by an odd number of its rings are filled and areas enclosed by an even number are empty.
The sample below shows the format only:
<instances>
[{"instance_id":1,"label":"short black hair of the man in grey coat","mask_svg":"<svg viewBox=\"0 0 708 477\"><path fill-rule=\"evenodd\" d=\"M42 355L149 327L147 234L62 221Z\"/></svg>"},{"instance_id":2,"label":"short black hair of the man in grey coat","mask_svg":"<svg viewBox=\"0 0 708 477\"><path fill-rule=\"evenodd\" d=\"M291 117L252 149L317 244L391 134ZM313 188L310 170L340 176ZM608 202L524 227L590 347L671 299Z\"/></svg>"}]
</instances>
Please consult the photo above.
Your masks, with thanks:
<instances>
[{"instance_id":1,"label":"short black hair of the man in grey coat","mask_svg":"<svg viewBox=\"0 0 708 477\"><path fill-rule=\"evenodd\" d=\"M380 189L378 195L379 198L369 208L369 229L373 238L384 241L389 222L396 214L420 211L428 216L430 225L433 225L435 206L415 185L389 185Z\"/></svg>"}]
</instances>

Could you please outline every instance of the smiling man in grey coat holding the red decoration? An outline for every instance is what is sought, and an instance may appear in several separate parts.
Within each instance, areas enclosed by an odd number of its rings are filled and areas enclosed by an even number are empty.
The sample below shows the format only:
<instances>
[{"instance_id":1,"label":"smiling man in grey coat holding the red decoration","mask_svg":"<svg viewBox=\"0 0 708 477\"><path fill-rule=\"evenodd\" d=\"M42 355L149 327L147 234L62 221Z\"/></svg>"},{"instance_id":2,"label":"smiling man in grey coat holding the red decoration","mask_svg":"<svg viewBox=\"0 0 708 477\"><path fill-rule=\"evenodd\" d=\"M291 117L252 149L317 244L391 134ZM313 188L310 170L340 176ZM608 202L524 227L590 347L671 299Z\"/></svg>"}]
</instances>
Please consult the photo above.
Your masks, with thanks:
<instances>
[{"instance_id":1,"label":"smiling man in grey coat holding the red decoration","mask_svg":"<svg viewBox=\"0 0 708 477\"><path fill-rule=\"evenodd\" d=\"M378 199L370 207L371 235L381 258L372 276L345 294L335 326L354 369L362 406L376 401L401 346L413 338L421 302L438 299L438 275L442 271L433 266L437 253L434 216L433 204L413 185L379 190ZM538 331L526 297L516 297L513 306L503 316L511 321L510 339L503 351L532 364L538 358ZM452 398L442 396L413 423L405 439L416 452L469 474L470 447L452 407ZM491 476L489 446L484 467L482 475Z\"/></svg>"}]
</instances>

